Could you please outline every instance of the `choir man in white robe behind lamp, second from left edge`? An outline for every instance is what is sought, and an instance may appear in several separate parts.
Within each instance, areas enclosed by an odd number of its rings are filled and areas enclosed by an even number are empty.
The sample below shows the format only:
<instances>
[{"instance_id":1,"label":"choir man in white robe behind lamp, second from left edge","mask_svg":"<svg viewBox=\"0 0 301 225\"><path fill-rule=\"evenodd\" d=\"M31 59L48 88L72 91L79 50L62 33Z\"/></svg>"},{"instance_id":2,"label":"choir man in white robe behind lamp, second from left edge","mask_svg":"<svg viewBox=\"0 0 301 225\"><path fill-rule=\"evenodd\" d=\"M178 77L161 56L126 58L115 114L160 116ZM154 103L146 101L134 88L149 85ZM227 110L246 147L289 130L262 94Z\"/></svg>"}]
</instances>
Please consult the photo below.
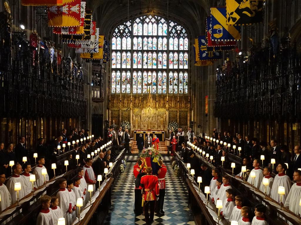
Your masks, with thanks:
<instances>
[{"instance_id":1,"label":"choir man in white robe behind lamp, second from left edge","mask_svg":"<svg viewBox=\"0 0 301 225\"><path fill-rule=\"evenodd\" d=\"M8 180L6 187L11 193L11 204L14 204L17 201L17 191L15 191L15 183L20 182L21 183L21 190L19 190L19 200L26 196L26 181L24 179L24 176L20 176L22 173L22 166L20 164L15 164L11 167L13 170L13 175L11 175L11 178Z\"/></svg>"}]
</instances>

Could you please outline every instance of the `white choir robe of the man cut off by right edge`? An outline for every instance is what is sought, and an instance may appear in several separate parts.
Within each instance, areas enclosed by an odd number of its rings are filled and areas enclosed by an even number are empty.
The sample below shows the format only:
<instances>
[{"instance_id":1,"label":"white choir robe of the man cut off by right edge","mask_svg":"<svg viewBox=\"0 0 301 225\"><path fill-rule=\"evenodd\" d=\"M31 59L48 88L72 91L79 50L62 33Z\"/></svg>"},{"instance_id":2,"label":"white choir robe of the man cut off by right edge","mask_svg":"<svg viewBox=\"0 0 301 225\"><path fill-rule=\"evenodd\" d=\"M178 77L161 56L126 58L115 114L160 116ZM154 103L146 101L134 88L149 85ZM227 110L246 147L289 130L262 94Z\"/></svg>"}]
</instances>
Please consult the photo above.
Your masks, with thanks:
<instances>
[{"instance_id":1,"label":"white choir robe of the man cut off by right edge","mask_svg":"<svg viewBox=\"0 0 301 225\"><path fill-rule=\"evenodd\" d=\"M301 214L301 206L299 206L300 199L301 199L301 183L295 183L292 185L292 188L290 189L290 193L286 198L284 207L288 208L290 211L292 211L297 216L299 216L299 214Z\"/></svg>"}]
</instances>

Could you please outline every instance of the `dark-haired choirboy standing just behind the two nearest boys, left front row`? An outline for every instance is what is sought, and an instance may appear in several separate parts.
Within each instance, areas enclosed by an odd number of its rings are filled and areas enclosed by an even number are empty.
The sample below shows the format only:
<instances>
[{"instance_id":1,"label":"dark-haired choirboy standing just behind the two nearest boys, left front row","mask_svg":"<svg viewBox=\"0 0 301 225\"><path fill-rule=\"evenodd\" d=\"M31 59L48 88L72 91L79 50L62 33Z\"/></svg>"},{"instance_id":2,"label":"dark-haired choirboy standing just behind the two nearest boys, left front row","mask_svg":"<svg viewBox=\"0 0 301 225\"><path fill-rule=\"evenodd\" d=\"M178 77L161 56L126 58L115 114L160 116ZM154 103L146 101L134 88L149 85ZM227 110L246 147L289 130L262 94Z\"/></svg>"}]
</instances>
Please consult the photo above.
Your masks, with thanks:
<instances>
[{"instance_id":1,"label":"dark-haired choirboy standing just behind the two nearest boys, left front row","mask_svg":"<svg viewBox=\"0 0 301 225\"><path fill-rule=\"evenodd\" d=\"M57 192L58 206L60 206L63 217L65 218L66 225L70 225L73 221L70 221L70 214L72 214L72 203L67 190L67 180L65 178L58 179L58 185L60 189Z\"/></svg>"}]
</instances>

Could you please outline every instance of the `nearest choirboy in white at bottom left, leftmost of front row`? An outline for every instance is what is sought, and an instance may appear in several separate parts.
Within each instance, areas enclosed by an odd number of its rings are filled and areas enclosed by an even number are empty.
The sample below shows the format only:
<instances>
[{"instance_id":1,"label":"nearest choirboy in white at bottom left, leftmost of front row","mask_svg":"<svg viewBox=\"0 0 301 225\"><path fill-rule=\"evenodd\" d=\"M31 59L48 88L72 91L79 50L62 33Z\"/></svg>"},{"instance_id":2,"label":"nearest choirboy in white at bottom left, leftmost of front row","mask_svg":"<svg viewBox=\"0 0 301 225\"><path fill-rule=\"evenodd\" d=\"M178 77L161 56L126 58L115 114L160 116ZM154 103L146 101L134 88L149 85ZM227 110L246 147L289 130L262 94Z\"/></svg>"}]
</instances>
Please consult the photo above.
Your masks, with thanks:
<instances>
[{"instance_id":1,"label":"nearest choirboy in white at bottom left, leftmost of front row","mask_svg":"<svg viewBox=\"0 0 301 225\"><path fill-rule=\"evenodd\" d=\"M42 209L40 210L40 213L37 218L36 225L54 225L57 224L56 221L54 221L54 214L50 207L50 200L51 197L48 195L43 195L40 198L40 202L42 205Z\"/></svg>"}]
</instances>

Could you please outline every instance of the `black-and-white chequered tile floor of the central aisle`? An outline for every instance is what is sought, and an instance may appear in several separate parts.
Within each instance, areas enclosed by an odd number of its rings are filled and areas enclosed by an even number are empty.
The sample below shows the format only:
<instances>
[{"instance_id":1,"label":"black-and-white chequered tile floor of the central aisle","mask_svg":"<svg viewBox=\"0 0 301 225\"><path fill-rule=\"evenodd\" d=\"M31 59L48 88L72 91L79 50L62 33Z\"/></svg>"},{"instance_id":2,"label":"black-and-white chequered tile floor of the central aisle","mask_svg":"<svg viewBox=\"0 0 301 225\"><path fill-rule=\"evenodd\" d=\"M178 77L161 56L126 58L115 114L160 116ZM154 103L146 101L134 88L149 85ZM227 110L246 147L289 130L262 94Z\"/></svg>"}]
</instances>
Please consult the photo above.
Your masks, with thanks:
<instances>
[{"instance_id":1,"label":"black-and-white chequered tile floor of the central aisle","mask_svg":"<svg viewBox=\"0 0 301 225\"><path fill-rule=\"evenodd\" d=\"M128 156L127 156L128 157ZM135 156L137 159L137 155ZM193 216L188 208L188 193L181 179L174 175L169 158L163 159L167 166L166 194L163 211L155 213L153 225L195 225ZM135 163L126 163L126 169L116 179L112 192L112 206L105 219L104 225L142 225L145 224L143 215L134 213L134 175Z\"/></svg>"}]
</instances>

